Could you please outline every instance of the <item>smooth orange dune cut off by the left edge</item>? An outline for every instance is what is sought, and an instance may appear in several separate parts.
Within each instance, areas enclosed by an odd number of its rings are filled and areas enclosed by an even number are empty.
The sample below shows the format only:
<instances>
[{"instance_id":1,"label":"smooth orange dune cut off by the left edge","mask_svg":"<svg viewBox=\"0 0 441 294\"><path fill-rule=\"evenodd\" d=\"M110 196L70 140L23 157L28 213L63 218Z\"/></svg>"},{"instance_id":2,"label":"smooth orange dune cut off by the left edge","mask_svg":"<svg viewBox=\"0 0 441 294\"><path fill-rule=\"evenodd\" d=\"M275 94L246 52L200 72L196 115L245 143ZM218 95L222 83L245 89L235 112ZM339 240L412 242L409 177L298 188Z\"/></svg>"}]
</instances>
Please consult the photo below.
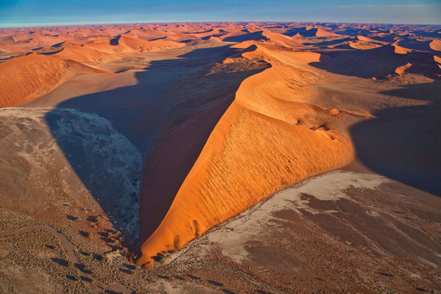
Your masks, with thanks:
<instances>
[{"instance_id":1,"label":"smooth orange dune cut off by the left edge","mask_svg":"<svg viewBox=\"0 0 441 294\"><path fill-rule=\"evenodd\" d=\"M31 101L79 74L109 74L73 60L27 55L0 63L0 107Z\"/></svg>"}]
</instances>

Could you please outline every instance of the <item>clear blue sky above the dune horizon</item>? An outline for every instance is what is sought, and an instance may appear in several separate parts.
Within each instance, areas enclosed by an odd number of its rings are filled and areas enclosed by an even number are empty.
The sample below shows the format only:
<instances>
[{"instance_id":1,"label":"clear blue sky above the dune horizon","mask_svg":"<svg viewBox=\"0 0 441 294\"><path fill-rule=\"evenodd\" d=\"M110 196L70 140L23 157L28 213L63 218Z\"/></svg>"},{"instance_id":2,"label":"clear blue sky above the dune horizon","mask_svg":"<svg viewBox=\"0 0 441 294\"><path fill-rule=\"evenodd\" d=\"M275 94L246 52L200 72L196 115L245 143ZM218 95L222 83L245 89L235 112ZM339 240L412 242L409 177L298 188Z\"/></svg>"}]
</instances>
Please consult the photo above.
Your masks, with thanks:
<instances>
[{"instance_id":1,"label":"clear blue sky above the dune horizon","mask_svg":"<svg viewBox=\"0 0 441 294\"><path fill-rule=\"evenodd\" d=\"M0 0L0 27L253 20L441 24L441 0Z\"/></svg>"}]
</instances>

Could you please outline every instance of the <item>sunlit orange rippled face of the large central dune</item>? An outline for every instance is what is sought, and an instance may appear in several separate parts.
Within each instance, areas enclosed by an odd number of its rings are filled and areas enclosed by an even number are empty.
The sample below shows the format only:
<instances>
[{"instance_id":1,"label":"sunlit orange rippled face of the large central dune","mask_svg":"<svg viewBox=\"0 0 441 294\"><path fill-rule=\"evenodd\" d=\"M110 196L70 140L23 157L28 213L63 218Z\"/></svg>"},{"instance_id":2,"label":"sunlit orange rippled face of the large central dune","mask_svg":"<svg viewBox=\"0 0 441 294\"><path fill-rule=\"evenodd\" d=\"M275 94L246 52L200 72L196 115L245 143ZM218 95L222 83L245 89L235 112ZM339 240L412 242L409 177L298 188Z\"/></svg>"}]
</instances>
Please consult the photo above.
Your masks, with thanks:
<instances>
[{"instance_id":1,"label":"sunlit orange rippled face of the large central dune","mask_svg":"<svg viewBox=\"0 0 441 294\"><path fill-rule=\"evenodd\" d=\"M243 57L263 58L272 67L241 84L163 222L143 244L138 264L149 267L152 256L179 249L275 191L353 158L350 140L331 123L340 111L297 102L305 96L297 83L318 78L306 62L319 54L257 47Z\"/></svg>"}]
</instances>

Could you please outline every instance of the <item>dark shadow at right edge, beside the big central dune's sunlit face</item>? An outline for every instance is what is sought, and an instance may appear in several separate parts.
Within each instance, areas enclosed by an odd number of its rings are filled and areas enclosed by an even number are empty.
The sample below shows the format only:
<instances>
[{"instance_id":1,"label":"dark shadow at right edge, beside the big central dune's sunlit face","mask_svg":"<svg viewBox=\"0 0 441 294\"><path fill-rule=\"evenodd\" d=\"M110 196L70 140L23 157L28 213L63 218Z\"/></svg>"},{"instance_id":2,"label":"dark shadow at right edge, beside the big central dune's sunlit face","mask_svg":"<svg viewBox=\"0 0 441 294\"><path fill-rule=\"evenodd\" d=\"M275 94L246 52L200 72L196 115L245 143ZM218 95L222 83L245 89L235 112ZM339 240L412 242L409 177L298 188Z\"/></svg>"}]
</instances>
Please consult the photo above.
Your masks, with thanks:
<instances>
[{"instance_id":1,"label":"dark shadow at right edge, beside the big central dune's sunlit face","mask_svg":"<svg viewBox=\"0 0 441 294\"><path fill-rule=\"evenodd\" d=\"M441 196L441 81L412 84L383 94L428 104L373 113L350 132L359 160L376 173Z\"/></svg>"}]
</instances>

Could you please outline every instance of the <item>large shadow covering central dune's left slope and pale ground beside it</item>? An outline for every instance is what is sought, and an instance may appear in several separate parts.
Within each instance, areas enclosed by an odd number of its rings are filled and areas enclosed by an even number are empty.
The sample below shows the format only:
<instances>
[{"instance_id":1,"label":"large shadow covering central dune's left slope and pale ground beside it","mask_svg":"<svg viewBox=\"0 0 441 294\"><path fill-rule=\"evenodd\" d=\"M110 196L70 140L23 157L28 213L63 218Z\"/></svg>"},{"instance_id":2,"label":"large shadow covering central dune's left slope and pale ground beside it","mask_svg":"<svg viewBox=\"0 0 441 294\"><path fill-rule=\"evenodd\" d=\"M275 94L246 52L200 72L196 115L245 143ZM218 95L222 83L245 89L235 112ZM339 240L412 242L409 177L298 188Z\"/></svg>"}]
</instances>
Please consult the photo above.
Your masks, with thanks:
<instances>
[{"instance_id":1,"label":"large shadow covering central dune's left slope and pale ground beside it","mask_svg":"<svg viewBox=\"0 0 441 294\"><path fill-rule=\"evenodd\" d=\"M65 158L125 239L143 241L159 226L240 83L264 69L210 70L240 51L198 47L151 61L135 73L136 85L77 96L45 114Z\"/></svg>"}]
</instances>

